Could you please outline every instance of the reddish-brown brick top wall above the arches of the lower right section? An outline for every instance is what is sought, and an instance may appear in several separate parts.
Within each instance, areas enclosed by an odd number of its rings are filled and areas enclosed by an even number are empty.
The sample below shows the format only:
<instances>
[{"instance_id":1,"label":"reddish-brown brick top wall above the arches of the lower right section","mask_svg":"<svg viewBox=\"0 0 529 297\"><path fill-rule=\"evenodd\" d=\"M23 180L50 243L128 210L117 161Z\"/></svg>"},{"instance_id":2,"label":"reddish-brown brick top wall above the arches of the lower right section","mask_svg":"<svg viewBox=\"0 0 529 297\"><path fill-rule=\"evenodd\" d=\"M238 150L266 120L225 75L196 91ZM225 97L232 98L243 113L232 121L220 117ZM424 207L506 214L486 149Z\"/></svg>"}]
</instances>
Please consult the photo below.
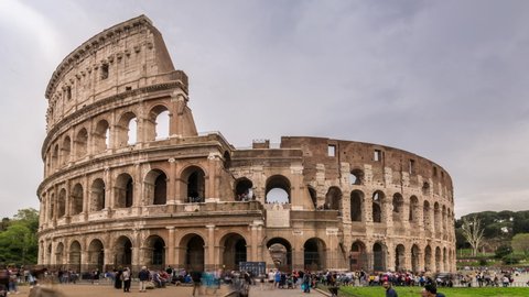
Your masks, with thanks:
<instances>
[{"instance_id":1,"label":"reddish-brown brick top wall above the arches of the lower right section","mask_svg":"<svg viewBox=\"0 0 529 297\"><path fill-rule=\"evenodd\" d=\"M365 165L373 168L373 179L385 184L387 174L391 172L391 183L403 183L403 175L410 185L422 187L431 184L434 193L442 188L453 193L452 178L447 172L434 162L417 154L399 148L354 141L331 140L325 138L283 136L282 148L301 148L304 158L304 176L314 178L316 165L325 165L327 178L341 175L342 164L348 163L350 170L364 170ZM334 155L330 154L334 150Z\"/></svg>"}]
</instances>

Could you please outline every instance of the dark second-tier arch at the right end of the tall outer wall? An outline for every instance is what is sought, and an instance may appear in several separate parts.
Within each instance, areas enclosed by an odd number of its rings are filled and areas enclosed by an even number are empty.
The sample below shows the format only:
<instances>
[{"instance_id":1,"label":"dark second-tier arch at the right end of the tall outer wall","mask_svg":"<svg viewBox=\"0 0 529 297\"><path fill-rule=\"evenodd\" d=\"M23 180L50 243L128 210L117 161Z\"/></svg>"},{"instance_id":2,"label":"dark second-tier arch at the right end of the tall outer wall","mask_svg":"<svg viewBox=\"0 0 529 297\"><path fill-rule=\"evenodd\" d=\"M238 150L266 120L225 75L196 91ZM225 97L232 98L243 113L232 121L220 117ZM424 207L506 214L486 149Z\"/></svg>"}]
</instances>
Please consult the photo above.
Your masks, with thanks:
<instances>
[{"instance_id":1,"label":"dark second-tier arch at the right end of the tall outer wall","mask_svg":"<svg viewBox=\"0 0 529 297\"><path fill-rule=\"evenodd\" d=\"M181 180L184 186L182 196L186 197L186 202L204 202L206 198L206 174L196 166L192 165L182 170Z\"/></svg>"}]
</instances>

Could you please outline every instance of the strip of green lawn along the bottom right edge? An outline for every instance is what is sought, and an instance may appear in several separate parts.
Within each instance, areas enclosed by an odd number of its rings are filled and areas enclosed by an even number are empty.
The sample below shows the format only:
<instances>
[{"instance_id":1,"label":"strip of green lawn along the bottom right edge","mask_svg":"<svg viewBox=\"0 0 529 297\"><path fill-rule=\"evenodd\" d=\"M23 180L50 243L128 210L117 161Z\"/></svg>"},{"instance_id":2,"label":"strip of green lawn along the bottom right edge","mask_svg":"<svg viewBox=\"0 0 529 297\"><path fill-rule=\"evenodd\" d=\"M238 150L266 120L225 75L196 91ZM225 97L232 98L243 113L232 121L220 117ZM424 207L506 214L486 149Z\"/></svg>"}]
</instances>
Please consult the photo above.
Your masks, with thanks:
<instances>
[{"instance_id":1,"label":"strip of green lawn along the bottom right edge","mask_svg":"<svg viewBox=\"0 0 529 297\"><path fill-rule=\"evenodd\" d=\"M417 297L421 296L421 287L395 287L399 297ZM439 288L450 297L472 297L472 296L495 296L495 297L527 297L529 296L529 287L496 287L496 288ZM377 287L341 287L339 296L352 297L379 297L384 296L385 289Z\"/></svg>"}]
</instances>

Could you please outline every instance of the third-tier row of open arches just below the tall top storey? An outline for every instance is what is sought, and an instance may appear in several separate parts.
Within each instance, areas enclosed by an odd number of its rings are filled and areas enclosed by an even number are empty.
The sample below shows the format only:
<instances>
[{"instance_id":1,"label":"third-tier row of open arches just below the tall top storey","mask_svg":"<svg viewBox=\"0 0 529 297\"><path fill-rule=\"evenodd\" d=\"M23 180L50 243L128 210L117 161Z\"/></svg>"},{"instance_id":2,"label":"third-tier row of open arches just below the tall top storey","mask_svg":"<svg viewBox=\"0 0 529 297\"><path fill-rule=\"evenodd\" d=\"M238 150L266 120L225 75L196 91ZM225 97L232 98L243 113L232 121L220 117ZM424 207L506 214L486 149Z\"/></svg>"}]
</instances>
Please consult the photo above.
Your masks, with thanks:
<instances>
[{"instance_id":1,"label":"third-tier row of open arches just below the tall top storey","mask_svg":"<svg viewBox=\"0 0 529 297\"><path fill-rule=\"evenodd\" d=\"M69 162L86 155L104 153L108 148L133 145L138 141L166 139L170 124L168 107L156 105L144 119L139 119L134 111L126 111L115 123L108 119L99 119L93 127L88 124L76 127L74 132L55 141L46 152L46 173L54 173Z\"/></svg>"}]
</instances>

